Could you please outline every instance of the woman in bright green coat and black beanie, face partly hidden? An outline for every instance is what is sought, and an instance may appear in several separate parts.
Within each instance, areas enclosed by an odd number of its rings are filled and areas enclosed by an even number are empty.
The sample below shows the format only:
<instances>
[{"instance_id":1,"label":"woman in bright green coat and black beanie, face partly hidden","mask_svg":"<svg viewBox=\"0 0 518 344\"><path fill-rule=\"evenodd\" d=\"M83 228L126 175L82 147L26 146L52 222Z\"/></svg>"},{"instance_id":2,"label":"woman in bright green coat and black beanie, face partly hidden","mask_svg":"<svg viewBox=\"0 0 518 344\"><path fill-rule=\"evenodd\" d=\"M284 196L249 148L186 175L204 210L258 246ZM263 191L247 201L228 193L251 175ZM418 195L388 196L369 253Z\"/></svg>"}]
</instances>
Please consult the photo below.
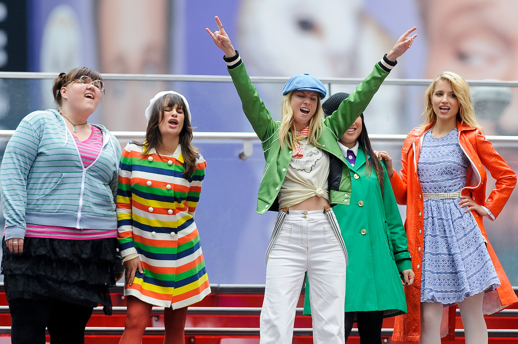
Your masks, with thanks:
<instances>
[{"instance_id":1,"label":"woman in bright green coat and black beanie, face partly hidden","mask_svg":"<svg viewBox=\"0 0 518 344\"><path fill-rule=\"evenodd\" d=\"M322 105L326 115L332 114L348 96L337 93L329 97ZM369 160L367 164L372 148L363 114L338 145L353 173L349 205L337 204L333 208L349 255L346 338L357 321L361 344L380 344L383 318L407 312L401 280L411 285L414 277L407 235L384 165L379 160ZM341 174L342 166L341 161L330 161L330 183L332 175ZM304 314L311 315L306 283Z\"/></svg>"}]
</instances>

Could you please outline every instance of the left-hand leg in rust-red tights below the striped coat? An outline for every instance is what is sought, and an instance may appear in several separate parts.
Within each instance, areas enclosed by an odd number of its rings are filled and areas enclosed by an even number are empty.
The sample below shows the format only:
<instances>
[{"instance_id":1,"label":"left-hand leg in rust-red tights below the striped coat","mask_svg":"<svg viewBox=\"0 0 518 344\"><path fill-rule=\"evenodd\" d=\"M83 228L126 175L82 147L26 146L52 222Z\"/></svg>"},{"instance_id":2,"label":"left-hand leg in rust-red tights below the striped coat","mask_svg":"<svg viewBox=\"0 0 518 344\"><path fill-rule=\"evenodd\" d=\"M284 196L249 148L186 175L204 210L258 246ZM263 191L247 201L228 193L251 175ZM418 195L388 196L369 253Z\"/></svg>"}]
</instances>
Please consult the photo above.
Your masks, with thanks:
<instances>
[{"instance_id":1,"label":"left-hand leg in rust-red tights below the striped coat","mask_svg":"<svg viewBox=\"0 0 518 344\"><path fill-rule=\"evenodd\" d=\"M127 315L124 333L119 344L140 344L151 316L153 305L143 302L135 296L127 296Z\"/></svg>"}]
</instances>

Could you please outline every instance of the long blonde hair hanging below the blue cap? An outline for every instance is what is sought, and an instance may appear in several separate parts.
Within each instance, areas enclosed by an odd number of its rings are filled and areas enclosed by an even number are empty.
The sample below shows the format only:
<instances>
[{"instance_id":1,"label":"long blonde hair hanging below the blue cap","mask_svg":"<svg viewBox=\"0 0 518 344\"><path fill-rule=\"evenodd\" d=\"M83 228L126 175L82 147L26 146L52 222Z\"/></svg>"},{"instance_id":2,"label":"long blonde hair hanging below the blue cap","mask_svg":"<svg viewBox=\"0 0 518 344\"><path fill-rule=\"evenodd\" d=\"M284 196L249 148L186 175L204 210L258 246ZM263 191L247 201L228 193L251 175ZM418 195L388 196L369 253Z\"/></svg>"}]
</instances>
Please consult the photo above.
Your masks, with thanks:
<instances>
[{"instance_id":1,"label":"long blonde hair hanging below the blue cap","mask_svg":"<svg viewBox=\"0 0 518 344\"><path fill-rule=\"evenodd\" d=\"M293 121L293 109L291 107L291 98L295 91L292 91L282 97L281 105L281 127L279 128L279 141L281 142L281 149L284 146L293 149L293 141L290 140L289 132L295 132L295 125ZM315 146L320 147L320 143L317 141L322 134L322 118L324 118L324 110L322 110L322 104L320 102L320 96L316 99L316 111L315 114L309 120L309 142ZM292 134L293 135L293 134Z\"/></svg>"}]
</instances>

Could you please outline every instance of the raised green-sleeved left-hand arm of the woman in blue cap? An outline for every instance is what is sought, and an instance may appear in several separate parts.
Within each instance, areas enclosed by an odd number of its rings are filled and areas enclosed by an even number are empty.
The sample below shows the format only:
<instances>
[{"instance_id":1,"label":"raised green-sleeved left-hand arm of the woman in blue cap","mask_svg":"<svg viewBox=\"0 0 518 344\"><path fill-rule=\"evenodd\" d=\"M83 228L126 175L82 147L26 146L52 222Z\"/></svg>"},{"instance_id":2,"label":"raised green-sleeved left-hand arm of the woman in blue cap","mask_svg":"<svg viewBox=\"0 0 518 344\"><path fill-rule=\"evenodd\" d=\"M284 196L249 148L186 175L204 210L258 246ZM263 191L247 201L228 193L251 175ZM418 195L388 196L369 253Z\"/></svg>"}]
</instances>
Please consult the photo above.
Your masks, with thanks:
<instances>
[{"instance_id":1,"label":"raised green-sleeved left-hand arm of the woman in blue cap","mask_svg":"<svg viewBox=\"0 0 518 344\"><path fill-rule=\"evenodd\" d=\"M230 38L218 17L215 17L219 31L212 33L209 28L206 31L212 37L214 44L223 52L223 59L227 64L228 73L232 77L236 91L241 99L243 112L252 125L255 133L261 141L267 140L279 128L279 124L271 118L270 112L266 109L264 102L259 97L257 89L250 81L247 70L239 53L232 46Z\"/></svg>"}]
</instances>

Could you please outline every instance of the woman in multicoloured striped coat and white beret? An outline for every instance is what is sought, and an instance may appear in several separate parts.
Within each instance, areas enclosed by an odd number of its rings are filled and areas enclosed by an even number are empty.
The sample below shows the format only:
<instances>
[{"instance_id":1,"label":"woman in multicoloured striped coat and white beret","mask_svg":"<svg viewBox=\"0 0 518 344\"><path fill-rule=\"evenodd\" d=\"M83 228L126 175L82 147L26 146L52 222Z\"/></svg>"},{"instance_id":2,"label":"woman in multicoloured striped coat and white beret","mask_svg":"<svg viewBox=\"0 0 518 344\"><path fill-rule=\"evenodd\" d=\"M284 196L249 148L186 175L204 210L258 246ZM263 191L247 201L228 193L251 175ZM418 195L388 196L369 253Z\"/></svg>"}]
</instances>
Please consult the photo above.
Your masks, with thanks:
<instances>
[{"instance_id":1,"label":"woman in multicoloured striped coat and white beret","mask_svg":"<svg viewBox=\"0 0 518 344\"><path fill-rule=\"evenodd\" d=\"M127 318L120 343L140 343L153 305L165 307L164 343L183 343L187 306L210 294L194 212L206 161L191 145L189 103L163 91L146 109L145 142L124 148L117 219Z\"/></svg>"}]
</instances>

